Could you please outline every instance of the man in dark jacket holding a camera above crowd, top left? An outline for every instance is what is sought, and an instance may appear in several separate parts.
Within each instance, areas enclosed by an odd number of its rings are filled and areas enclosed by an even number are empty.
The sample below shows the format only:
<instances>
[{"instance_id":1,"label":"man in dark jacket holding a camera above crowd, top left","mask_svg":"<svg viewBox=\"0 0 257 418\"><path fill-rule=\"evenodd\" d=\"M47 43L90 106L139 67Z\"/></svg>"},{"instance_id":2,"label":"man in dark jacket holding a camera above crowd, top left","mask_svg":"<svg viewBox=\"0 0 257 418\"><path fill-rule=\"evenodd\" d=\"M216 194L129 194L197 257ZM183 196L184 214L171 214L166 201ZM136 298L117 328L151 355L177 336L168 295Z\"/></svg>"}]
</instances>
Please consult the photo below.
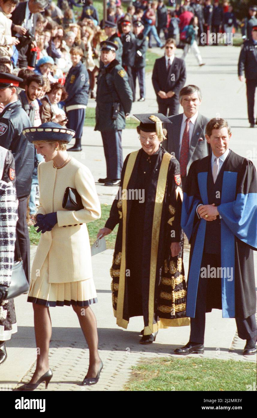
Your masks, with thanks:
<instances>
[{"instance_id":1,"label":"man in dark jacket holding a camera above crowd, top left","mask_svg":"<svg viewBox=\"0 0 257 418\"><path fill-rule=\"evenodd\" d=\"M31 50L31 41L26 37L26 32L30 31L35 35L37 13L42 12L48 5L48 0L29 0L19 3L12 13L12 36L18 32L17 36L20 36L20 43L17 46L19 51L19 67L27 67L28 59ZM17 27L20 26L26 29L26 32L20 29L17 31ZM24 36L25 35L25 36Z\"/></svg>"}]
</instances>

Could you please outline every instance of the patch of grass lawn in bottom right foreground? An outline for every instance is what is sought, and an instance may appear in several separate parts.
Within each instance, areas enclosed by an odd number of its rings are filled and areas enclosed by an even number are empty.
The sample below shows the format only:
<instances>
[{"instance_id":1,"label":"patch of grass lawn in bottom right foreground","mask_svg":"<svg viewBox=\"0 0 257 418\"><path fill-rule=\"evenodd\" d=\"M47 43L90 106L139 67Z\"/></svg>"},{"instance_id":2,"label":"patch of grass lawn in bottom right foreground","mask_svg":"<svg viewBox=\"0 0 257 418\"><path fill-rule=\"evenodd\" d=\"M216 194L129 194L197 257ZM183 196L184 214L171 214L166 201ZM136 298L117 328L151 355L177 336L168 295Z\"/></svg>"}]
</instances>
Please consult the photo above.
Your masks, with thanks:
<instances>
[{"instance_id":1,"label":"patch of grass lawn in bottom right foreground","mask_svg":"<svg viewBox=\"0 0 257 418\"><path fill-rule=\"evenodd\" d=\"M256 380L256 364L170 357L145 361L132 373L127 391L245 391Z\"/></svg>"}]
</instances>

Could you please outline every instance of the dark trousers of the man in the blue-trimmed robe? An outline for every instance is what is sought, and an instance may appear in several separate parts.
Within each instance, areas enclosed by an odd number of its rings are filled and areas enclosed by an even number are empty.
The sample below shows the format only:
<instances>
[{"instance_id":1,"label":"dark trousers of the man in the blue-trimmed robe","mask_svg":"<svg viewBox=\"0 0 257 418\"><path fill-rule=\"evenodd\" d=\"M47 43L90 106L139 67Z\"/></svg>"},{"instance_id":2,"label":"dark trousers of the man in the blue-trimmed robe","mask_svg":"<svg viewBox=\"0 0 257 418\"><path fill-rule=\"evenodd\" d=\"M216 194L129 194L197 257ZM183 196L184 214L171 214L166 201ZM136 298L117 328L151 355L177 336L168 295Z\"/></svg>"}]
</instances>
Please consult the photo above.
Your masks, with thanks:
<instances>
[{"instance_id":1,"label":"dark trousers of the man in the blue-trimmed robe","mask_svg":"<svg viewBox=\"0 0 257 418\"><path fill-rule=\"evenodd\" d=\"M201 268L210 265L212 267L220 267L220 255L217 254L207 254L204 253L202 256ZM197 291L197 301L195 309L195 318L190 318L190 341L198 342L199 344L204 344L205 337L205 312L206 312L206 301L209 297L217 297L218 295L209 294L207 295L207 283L208 280L219 280L219 279L210 279L210 278L199 278L198 291ZM221 283L221 282L220 282ZM217 283L217 289L219 288L219 283ZM221 289L220 289L221 290ZM221 293L220 293L221 297ZM251 339L256 337L256 320L255 315L249 316L246 319L235 318L237 324L238 336L241 339Z\"/></svg>"}]
</instances>

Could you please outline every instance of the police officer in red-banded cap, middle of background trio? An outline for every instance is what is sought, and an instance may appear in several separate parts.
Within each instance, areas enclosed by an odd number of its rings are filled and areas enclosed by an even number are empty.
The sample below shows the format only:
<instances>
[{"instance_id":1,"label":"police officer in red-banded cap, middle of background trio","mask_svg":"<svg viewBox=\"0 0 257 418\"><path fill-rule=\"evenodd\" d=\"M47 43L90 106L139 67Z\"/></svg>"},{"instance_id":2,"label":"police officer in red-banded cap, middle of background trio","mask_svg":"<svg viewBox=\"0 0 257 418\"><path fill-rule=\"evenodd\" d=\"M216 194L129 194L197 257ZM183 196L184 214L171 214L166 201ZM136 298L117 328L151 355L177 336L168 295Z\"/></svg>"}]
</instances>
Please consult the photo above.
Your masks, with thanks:
<instances>
[{"instance_id":1,"label":"police officer in red-banded cap, middle of background trio","mask_svg":"<svg viewBox=\"0 0 257 418\"><path fill-rule=\"evenodd\" d=\"M128 82L133 94L133 102L135 102L135 88L132 76L132 67L136 58L136 38L131 31L131 22L129 20L122 21L122 35L120 37L123 45L122 67L127 71Z\"/></svg>"}]
</instances>

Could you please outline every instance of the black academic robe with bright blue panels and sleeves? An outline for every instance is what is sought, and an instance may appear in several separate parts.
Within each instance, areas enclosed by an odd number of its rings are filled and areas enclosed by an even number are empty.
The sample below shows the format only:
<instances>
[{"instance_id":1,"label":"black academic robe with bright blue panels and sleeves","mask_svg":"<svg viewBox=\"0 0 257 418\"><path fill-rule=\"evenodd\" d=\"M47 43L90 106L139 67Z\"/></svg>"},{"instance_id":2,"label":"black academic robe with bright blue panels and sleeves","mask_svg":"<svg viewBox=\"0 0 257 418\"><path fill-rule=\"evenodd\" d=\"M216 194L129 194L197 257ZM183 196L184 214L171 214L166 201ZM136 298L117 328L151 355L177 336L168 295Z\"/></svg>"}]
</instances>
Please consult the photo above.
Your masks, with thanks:
<instances>
[{"instance_id":1,"label":"black academic robe with bright blue panels and sleeves","mask_svg":"<svg viewBox=\"0 0 257 418\"><path fill-rule=\"evenodd\" d=\"M197 288L200 277L206 234L210 229L205 219L199 219L196 209L208 201L207 184L211 174L211 155L194 161L190 166L184 189L182 228L191 244L190 266L187 280L187 316L195 318ZM230 269L231 278L221 278L223 318L248 318L256 311L255 273L253 250L257 250L257 177L252 161L230 151L222 165L221 195L217 206L220 214L219 240L213 246L220 247L222 271ZM208 177L209 176L209 177ZM216 186L216 183L215 183ZM211 221L208 222L211 224ZM210 237L209 237L210 238ZM210 241L210 240L209 240ZM212 277L212 276L210 276ZM211 280L208 286L211 286ZM215 300L215 296L213 297ZM210 312L212 300L207 301Z\"/></svg>"}]
</instances>

